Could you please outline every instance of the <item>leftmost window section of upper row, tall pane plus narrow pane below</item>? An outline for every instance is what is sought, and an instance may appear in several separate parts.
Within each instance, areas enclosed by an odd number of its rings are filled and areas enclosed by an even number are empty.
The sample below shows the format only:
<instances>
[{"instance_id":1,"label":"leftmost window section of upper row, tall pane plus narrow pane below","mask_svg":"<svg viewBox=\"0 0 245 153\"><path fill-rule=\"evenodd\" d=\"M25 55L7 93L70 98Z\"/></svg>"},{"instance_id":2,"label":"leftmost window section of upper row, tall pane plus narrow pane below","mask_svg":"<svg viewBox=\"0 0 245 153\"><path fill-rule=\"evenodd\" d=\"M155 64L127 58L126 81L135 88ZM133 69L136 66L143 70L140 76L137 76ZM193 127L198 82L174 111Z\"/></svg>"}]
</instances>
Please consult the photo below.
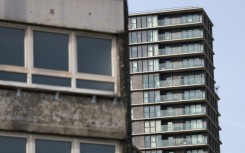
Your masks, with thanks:
<instances>
[{"instance_id":1,"label":"leftmost window section of upper row, tall pane plus narrow pane below","mask_svg":"<svg viewBox=\"0 0 245 153\"><path fill-rule=\"evenodd\" d=\"M27 81L24 39L24 27L0 26L0 80Z\"/></svg>"}]
</instances>

